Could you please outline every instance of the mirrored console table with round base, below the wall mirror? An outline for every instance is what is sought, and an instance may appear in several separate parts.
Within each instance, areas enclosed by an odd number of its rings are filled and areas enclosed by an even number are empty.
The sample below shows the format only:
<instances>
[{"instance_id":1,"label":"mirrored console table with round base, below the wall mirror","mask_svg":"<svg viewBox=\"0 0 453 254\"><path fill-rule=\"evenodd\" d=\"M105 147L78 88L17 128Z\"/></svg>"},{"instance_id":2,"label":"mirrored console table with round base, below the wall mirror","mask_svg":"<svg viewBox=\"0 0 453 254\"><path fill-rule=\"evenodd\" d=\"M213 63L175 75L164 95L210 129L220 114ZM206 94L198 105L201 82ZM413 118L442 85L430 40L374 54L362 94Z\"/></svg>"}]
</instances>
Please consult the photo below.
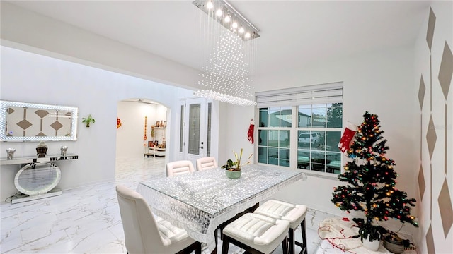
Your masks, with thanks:
<instances>
[{"instance_id":1,"label":"mirrored console table with round base, below the wall mirror","mask_svg":"<svg viewBox=\"0 0 453 254\"><path fill-rule=\"evenodd\" d=\"M11 203L62 195L62 191L53 190L61 179L61 171L54 162L69 159L79 159L79 155L0 159L0 165L21 165L21 169L14 177L14 185L25 195L21 198L11 198Z\"/></svg>"}]
</instances>

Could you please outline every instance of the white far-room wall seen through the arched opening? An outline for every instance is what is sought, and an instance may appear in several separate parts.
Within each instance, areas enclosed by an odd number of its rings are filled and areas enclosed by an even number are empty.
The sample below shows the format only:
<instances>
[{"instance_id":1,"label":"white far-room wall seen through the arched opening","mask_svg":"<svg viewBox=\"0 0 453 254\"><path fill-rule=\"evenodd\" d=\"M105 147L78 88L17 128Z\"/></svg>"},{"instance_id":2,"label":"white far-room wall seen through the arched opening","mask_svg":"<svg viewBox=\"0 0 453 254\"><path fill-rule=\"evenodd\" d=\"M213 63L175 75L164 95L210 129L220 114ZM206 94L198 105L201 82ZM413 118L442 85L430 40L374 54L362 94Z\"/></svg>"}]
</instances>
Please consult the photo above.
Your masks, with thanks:
<instances>
[{"instance_id":1,"label":"white far-room wall seen through the arched opening","mask_svg":"<svg viewBox=\"0 0 453 254\"><path fill-rule=\"evenodd\" d=\"M118 102L117 115L121 119L121 127L116 132L116 157L143 157L143 153L148 150L148 141L153 140L151 126L156 124L156 121L166 121L166 114L167 109L161 104ZM147 140L144 140L145 116L147 116ZM166 141L168 146L173 145L168 138Z\"/></svg>"}]
</instances>

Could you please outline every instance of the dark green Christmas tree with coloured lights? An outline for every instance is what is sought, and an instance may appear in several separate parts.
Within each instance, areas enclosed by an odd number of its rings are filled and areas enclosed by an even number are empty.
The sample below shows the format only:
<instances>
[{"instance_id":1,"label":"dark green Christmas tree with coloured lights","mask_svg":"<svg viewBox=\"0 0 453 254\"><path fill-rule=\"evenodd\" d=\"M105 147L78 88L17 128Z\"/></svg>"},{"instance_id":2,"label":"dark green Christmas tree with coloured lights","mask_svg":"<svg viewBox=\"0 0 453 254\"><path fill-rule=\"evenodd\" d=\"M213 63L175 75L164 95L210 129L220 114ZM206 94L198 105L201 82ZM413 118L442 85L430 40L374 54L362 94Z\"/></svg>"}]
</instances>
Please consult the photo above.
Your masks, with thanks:
<instances>
[{"instance_id":1,"label":"dark green Christmas tree with coloured lights","mask_svg":"<svg viewBox=\"0 0 453 254\"><path fill-rule=\"evenodd\" d=\"M355 141L348 150L350 161L345 164L345 171L338 179L347 182L346 186L333 188L332 202L340 210L363 211L366 219L356 218L360 227L361 238L369 241L380 240L382 226L374 221L386 221L390 218L418 226L411 215L414 198L407 198L407 193L399 191L394 171L395 162L386 158L384 131L380 130L377 115L365 112L363 122L355 133Z\"/></svg>"}]
</instances>

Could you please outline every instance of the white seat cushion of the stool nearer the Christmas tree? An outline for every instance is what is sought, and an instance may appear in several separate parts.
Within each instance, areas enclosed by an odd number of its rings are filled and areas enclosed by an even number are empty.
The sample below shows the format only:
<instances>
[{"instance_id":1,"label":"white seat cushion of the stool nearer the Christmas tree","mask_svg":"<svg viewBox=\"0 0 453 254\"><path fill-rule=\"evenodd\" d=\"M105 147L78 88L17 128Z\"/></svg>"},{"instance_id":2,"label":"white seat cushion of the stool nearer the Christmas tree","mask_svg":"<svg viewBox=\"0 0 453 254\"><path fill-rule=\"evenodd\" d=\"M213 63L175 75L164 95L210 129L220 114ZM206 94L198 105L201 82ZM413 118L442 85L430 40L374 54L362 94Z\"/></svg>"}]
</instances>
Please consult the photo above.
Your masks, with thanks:
<instances>
[{"instance_id":1,"label":"white seat cushion of the stool nearer the Christmas tree","mask_svg":"<svg viewBox=\"0 0 453 254\"><path fill-rule=\"evenodd\" d=\"M289 227L296 229L306 215L306 205L295 205L280 200L268 200L260 205L255 212L273 219L289 221Z\"/></svg>"}]
</instances>

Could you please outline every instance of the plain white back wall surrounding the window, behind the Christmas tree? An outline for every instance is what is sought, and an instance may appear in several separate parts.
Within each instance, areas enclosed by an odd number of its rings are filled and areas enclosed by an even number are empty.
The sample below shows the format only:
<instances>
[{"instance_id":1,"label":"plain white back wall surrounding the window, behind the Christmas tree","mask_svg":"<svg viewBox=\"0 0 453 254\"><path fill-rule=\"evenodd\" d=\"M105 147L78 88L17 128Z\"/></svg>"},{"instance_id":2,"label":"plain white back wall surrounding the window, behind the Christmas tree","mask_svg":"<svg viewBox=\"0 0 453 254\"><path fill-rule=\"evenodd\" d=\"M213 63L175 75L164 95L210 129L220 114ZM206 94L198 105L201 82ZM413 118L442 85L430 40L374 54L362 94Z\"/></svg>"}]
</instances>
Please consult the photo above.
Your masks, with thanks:
<instances>
[{"instance_id":1,"label":"plain white back wall surrounding the window, behind the Christmas tree","mask_svg":"<svg viewBox=\"0 0 453 254\"><path fill-rule=\"evenodd\" d=\"M301 49L303 50L303 49ZM343 81L343 124L348 121L362 122L365 111L377 114L385 131L388 157L396 161L395 170L399 174L397 188L415 197L414 174L418 170L415 154L415 92L413 87L413 46L369 52L360 56L349 56L314 63L312 66L297 66L287 73L268 75L256 80L259 90L275 90L285 87L314 85ZM219 140L223 152L230 156L231 150L244 147L250 151L246 131L253 116L253 107L222 107L221 121L229 119L229 124L221 123L223 128ZM231 122L234 119L234 123ZM222 151L219 160L222 162ZM307 181L299 181L281 191L277 198L308 205L316 210L345 216L331 202L334 186L343 185L335 177L325 179L309 176ZM413 210L417 214L417 210ZM410 228L412 226L406 226ZM406 230L406 229L403 229ZM408 229L412 230L412 229Z\"/></svg>"}]
</instances>

